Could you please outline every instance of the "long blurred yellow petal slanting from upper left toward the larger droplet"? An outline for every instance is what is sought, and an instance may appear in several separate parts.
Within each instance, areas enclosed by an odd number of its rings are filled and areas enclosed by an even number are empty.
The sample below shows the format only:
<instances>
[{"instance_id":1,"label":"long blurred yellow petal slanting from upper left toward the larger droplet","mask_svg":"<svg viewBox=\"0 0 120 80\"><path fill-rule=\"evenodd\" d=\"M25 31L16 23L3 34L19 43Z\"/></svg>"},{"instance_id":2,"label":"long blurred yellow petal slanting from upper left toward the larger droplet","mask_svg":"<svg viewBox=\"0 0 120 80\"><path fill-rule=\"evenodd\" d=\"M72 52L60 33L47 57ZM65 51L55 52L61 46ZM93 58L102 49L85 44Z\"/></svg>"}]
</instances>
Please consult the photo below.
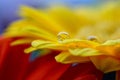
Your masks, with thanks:
<instances>
[{"instance_id":1,"label":"long blurred yellow petal slanting from upper left toward the larger droplet","mask_svg":"<svg viewBox=\"0 0 120 80\"><path fill-rule=\"evenodd\" d=\"M44 11L36 10L32 7L21 6L21 11L19 13L22 17L35 21L36 24L41 24L41 28L46 30L58 33L62 29L61 26L58 25L50 15L47 15Z\"/></svg>"}]
</instances>

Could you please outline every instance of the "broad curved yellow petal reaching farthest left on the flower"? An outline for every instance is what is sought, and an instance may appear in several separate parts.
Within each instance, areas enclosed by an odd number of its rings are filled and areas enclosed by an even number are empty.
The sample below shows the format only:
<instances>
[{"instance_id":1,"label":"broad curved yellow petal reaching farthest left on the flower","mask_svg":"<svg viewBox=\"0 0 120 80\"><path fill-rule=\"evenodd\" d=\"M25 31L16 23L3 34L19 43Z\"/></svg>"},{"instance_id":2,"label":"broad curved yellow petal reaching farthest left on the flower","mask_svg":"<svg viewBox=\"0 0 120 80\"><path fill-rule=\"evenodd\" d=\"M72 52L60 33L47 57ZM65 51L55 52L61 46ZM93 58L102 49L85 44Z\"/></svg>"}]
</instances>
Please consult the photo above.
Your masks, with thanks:
<instances>
[{"instance_id":1,"label":"broad curved yellow petal reaching farthest left on the flower","mask_svg":"<svg viewBox=\"0 0 120 80\"><path fill-rule=\"evenodd\" d=\"M11 24L3 35L6 37L30 37L32 39L42 38L56 41L56 36L54 34L40 29L25 20Z\"/></svg>"}]
</instances>

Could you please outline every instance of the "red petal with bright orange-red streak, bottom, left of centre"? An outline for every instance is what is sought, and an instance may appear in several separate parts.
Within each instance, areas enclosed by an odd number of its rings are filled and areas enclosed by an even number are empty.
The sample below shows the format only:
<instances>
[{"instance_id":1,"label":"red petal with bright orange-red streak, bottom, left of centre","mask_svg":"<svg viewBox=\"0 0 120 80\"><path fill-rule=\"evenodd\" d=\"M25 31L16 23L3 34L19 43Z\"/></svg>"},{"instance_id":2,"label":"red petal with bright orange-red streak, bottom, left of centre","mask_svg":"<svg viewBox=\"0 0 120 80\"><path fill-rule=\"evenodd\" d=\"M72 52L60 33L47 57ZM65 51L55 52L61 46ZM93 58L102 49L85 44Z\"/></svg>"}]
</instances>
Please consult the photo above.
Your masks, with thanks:
<instances>
[{"instance_id":1,"label":"red petal with bright orange-red streak, bottom, left of centre","mask_svg":"<svg viewBox=\"0 0 120 80\"><path fill-rule=\"evenodd\" d=\"M57 63L55 55L51 53L33 62L28 69L26 80L58 80L69 65Z\"/></svg>"}]
</instances>

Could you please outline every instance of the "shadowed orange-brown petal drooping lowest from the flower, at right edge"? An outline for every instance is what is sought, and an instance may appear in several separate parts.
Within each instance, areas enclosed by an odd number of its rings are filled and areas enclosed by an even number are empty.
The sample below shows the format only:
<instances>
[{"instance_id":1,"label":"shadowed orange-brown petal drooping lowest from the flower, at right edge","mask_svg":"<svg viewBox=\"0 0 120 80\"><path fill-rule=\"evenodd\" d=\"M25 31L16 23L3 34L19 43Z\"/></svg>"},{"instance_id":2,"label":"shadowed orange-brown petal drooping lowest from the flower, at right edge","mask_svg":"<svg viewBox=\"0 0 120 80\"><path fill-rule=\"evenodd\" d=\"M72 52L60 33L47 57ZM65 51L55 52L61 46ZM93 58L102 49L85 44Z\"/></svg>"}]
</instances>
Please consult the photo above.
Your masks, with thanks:
<instances>
[{"instance_id":1,"label":"shadowed orange-brown petal drooping lowest from the flower, at right edge","mask_svg":"<svg viewBox=\"0 0 120 80\"><path fill-rule=\"evenodd\" d=\"M120 61L111 56L90 57L97 69L104 73L120 70Z\"/></svg>"}]
</instances>

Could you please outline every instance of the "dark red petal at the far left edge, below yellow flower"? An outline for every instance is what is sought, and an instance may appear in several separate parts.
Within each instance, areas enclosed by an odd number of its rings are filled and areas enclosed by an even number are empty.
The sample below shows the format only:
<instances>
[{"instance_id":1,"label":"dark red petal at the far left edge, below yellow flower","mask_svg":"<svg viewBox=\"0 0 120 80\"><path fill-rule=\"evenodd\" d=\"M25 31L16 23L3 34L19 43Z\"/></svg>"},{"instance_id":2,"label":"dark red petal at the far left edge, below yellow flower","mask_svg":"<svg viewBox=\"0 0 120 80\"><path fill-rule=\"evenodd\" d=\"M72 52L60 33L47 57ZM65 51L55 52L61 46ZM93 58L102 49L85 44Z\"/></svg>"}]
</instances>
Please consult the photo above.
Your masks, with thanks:
<instances>
[{"instance_id":1,"label":"dark red petal at the far left edge, below yellow flower","mask_svg":"<svg viewBox=\"0 0 120 80\"><path fill-rule=\"evenodd\" d=\"M24 54L28 45L10 46L11 39L0 40L0 80L23 80L29 55Z\"/></svg>"}]
</instances>

